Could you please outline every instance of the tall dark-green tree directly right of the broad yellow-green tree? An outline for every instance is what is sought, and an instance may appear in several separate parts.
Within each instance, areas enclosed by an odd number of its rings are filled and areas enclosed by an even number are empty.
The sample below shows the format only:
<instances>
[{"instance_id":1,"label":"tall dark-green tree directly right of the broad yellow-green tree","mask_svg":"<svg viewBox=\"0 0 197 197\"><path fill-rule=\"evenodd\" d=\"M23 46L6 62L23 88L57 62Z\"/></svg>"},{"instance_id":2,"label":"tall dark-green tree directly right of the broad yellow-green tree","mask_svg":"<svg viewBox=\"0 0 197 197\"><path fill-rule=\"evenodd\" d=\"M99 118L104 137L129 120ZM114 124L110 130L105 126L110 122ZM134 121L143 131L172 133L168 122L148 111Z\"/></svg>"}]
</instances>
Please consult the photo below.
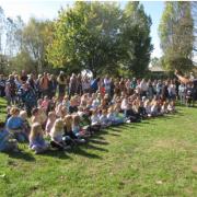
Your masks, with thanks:
<instances>
[{"instance_id":1,"label":"tall dark-green tree directly right of the broad yellow-green tree","mask_svg":"<svg viewBox=\"0 0 197 197\"><path fill-rule=\"evenodd\" d=\"M124 65L135 76L148 70L153 49L150 37L151 19L139 2L128 2L124 10L123 44Z\"/></svg>"}]
</instances>

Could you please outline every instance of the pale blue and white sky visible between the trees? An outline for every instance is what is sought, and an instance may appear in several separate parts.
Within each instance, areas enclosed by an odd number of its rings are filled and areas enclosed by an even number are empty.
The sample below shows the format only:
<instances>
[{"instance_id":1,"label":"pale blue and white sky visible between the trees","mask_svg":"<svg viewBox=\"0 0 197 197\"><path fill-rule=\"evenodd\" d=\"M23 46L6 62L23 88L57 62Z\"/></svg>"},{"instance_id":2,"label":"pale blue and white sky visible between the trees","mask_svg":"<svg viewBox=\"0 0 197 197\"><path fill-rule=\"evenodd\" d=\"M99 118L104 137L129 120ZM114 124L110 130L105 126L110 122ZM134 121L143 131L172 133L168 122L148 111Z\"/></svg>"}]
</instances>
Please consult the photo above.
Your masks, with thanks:
<instances>
[{"instance_id":1,"label":"pale blue and white sky visible between the trees","mask_svg":"<svg viewBox=\"0 0 197 197\"><path fill-rule=\"evenodd\" d=\"M15 18L21 15L24 22L27 22L31 16L37 19L55 19L58 15L58 10L73 1L63 0L0 0L0 7L4 10L5 16ZM126 1L118 1L121 7ZM152 19L151 37L154 50L151 57L161 57L160 39L158 35L158 27L160 19L164 9L163 1L141 1L144 11Z\"/></svg>"}]
</instances>

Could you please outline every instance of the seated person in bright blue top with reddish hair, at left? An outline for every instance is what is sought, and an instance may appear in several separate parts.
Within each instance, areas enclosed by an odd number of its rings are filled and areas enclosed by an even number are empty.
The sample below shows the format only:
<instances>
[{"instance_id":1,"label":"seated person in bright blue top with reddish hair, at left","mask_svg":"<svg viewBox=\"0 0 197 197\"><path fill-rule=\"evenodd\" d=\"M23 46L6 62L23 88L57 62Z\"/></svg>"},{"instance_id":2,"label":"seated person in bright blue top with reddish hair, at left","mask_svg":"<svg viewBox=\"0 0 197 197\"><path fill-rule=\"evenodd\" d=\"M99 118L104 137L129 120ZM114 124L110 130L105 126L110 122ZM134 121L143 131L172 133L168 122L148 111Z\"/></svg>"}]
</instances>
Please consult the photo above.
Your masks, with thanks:
<instances>
[{"instance_id":1,"label":"seated person in bright blue top with reddish hair, at left","mask_svg":"<svg viewBox=\"0 0 197 197\"><path fill-rule=\"evenodd\" d=\"M20 109L18 107L12 107L10 114L11 117L7 121L7 129L10 134L13 135L13 138L15 138L20 142L24 142L24 125L23 119L19 117Z\"/></svg>"}]
</instances>

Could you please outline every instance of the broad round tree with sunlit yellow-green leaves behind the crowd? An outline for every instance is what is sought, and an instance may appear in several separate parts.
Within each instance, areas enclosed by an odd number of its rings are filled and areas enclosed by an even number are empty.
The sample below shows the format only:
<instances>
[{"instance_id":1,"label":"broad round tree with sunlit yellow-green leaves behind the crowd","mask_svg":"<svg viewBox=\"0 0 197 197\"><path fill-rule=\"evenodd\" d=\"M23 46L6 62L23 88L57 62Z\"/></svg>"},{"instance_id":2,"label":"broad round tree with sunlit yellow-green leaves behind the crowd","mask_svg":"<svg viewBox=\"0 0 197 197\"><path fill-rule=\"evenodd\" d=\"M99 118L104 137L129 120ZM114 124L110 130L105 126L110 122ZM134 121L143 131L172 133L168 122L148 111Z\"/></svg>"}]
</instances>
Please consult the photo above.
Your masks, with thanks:
<instances>
[{"instance_id":1,"label":"broad round tree with sunlit yellow-green leaves behind the crowd","mask_svg":"<svg viewBox=\"0 0 197 197\"><path fill-rule=\"evenodd\" d=\"M77 2L61 10L55 23L55 39L47 50L48 60L55 67L90 69L94 74L116 66L119 18L116 3Z\"/></svg>"}]
</instances>

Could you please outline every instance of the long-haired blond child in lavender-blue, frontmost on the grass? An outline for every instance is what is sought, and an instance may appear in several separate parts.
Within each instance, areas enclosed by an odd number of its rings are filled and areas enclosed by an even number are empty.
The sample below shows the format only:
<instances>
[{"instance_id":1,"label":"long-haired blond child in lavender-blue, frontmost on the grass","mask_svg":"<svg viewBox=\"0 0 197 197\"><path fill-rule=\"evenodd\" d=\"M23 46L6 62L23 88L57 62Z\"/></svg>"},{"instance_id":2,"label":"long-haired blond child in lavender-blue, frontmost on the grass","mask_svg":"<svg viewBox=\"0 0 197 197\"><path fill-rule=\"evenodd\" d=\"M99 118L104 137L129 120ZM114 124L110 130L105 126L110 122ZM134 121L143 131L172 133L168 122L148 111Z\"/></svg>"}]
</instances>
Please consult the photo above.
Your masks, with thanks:
<instances>
[{"instance_id":1,"label":"long-haired blond child in lavender-blue, frontmost on the grass","mask_svg":"<svg viewBox=\"0 0 197 197\"><path fill-rule=\"evenodd\" d=\"M43 138L42 125L39 123L34 123L30 135L30 149L38 154L45 152L48 148L48 143L46 143Z\"/></svg>"}]
</instances>

